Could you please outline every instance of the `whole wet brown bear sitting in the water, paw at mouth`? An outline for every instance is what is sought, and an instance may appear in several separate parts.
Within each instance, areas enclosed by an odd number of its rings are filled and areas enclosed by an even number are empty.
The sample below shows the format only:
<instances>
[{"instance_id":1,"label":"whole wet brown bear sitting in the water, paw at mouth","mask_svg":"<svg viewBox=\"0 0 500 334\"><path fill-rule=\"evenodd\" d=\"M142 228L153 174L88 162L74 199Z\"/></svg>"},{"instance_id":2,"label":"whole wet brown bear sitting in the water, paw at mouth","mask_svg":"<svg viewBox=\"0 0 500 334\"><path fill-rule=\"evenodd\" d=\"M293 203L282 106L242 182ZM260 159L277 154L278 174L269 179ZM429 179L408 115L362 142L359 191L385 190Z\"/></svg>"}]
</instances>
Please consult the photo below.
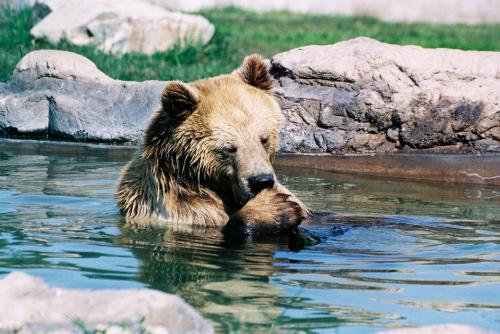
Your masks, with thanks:
<instances>
[{"instance_id":1,"label":"whole wet brown bear sitting in the water, paw at mouth","mask_svg":"<svg viewBox=\"0 0 500 334\"><path fill-rule=\"evenodd\" d=\"M271 165L283 116L268 67L252 55L231 74L167 84L120 181L128 221L266 235L306 219Z\"/></svg>"}]
</instances>

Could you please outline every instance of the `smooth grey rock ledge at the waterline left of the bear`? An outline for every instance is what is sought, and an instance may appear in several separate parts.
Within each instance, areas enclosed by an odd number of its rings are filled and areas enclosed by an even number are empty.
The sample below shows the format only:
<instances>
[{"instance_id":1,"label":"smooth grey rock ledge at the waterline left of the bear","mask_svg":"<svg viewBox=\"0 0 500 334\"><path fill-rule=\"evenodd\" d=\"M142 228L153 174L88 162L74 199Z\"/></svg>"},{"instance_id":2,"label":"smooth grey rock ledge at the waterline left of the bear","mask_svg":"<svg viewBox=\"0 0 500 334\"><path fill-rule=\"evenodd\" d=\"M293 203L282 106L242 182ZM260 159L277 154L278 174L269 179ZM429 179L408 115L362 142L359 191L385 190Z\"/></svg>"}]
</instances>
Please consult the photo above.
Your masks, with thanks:
<instances>
[{"instance_id":1,"label":"smooth grey rock ledge at the waterline left of the bear","mask_svg":"<svg viewBox=\"0 0 500 334\"><path fill-rule=\"evenodd\" d=\"M0 89L0 132L139 142L164 86L113 80L75 53L33 51Z\"/></svg>"}]
</instances>

